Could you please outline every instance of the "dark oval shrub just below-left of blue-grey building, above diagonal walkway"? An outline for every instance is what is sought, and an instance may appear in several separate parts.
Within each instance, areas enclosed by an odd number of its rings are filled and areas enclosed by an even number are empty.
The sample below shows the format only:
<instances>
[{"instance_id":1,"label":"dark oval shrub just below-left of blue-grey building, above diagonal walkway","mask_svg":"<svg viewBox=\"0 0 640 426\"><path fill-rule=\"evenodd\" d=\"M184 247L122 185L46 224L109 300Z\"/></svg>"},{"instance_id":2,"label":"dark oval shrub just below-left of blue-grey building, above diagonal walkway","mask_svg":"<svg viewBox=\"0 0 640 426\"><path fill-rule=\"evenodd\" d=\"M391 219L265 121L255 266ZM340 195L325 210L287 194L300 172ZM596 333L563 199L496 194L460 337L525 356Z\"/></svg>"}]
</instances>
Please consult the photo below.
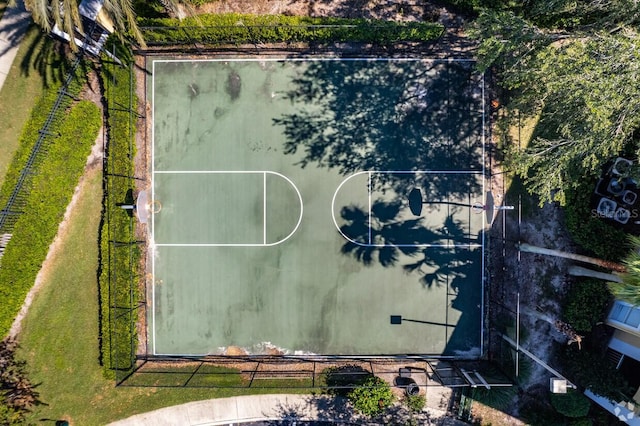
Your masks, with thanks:
<instances>
[{"instance_id":1,"label":"dark oval shrub just below-left of blue-grey building, above diagonal walkway","mask_svg":"<svg viewBox=\"0 0 640 426\"><path fill-rule=\"evenodd\" d=\"M564 349L562 359L572 382L597 395L618 401L628 391L628 384L620 370L598 353L571 345Z\"/></svg>"}]
</instances>

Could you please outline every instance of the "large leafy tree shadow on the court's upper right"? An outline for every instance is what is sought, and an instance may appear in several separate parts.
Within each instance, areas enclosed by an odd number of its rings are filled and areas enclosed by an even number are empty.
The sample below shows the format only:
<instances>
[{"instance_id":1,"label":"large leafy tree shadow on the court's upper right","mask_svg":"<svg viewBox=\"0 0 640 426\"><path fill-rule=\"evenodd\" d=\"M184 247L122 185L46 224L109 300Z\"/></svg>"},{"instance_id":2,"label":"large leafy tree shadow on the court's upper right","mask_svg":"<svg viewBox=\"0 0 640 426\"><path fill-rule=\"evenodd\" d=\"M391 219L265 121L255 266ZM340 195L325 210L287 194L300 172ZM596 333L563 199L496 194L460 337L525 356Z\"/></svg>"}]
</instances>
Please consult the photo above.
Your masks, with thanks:
<instances>
[{"instance_id":1,"label":"large leafy tree shadow on the court's upper right","mask_svg":"<svg viewBox=\"0 0 640 426\"><path fill-rule=\"evenodd\" d=\"M463 62L315 61L300 69L286 94L296 112L274 122L284 128L284 152L301 167L313 163L343 175L481 171L478 78ZM376 183L398 193L415 184L394 174ZM480 190L455 173L425 176L420 185L458 199Z\"/></svg>"}]
</instances>

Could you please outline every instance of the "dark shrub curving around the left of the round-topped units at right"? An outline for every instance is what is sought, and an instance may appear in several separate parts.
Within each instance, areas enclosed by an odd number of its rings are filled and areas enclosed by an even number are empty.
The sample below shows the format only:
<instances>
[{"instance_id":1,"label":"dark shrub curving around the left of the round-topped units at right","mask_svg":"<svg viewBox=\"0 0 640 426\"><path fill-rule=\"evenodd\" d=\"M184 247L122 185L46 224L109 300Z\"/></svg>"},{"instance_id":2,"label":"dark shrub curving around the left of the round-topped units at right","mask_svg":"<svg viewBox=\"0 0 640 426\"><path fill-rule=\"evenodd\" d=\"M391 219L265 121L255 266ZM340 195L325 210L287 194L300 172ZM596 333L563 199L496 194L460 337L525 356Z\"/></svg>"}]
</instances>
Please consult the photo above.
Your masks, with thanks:
<instances>
[{"instance_id":1,"label":"dark shrub curving around the left of the round-topped units at right","mask_svg":"<svg viewBox=\"0 0 640 426\"><path fill-rule=\"evenodd\" d=\"M567 230L573 240L583 249L596 257L618 261L629 252L629 246L621 244L626 241L626 234L609 225L598 217L591 207L591 194L596 185L594 179L584 179L573 191L567 192L564 206ZM597 235L598 238L594 238Z\"/></svg>"}]
</instances>

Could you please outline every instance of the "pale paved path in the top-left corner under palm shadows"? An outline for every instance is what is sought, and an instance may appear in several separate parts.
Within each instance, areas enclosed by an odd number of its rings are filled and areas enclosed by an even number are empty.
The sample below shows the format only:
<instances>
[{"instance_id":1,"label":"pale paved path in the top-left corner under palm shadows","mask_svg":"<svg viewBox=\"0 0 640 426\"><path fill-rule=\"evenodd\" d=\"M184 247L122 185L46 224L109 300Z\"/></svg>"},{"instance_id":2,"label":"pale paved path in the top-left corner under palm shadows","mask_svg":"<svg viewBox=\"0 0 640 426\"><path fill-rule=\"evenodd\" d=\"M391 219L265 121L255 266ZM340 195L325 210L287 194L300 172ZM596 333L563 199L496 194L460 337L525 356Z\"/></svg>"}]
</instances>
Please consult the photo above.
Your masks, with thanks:
<instances>
[{"instance_id":1,"label":"pale paved path in the top-left corner under palm shadows","mask_svg":"<svg viewBox=\"0 0 640 426\"><path fill-rule=\"evenodd\" d=\"M23 0L17 0L14 6L7 7L0 19L0 89L30 23L31 15L25 10Z\"/></svg>"}]
</instances>

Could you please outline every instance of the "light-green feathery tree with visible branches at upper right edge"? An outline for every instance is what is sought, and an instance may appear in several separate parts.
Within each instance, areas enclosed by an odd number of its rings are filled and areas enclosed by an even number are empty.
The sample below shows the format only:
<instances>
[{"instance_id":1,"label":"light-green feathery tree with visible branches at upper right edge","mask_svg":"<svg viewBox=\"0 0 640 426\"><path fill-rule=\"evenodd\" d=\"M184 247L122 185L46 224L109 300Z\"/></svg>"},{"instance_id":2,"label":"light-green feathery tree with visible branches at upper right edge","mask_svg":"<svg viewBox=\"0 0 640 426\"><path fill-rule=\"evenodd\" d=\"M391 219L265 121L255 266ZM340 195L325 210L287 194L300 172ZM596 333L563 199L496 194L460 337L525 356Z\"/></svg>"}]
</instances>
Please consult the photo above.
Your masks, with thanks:
<instances>
[{"instance_id":1,"label":"light-green feathery tree with visible branches at upper right edge","mask_svg":"<svg viewBox=\"0 0 640 426\"><path fill-rule=\"evenodd\" d=\"M635 32L598 34L551 44L507 79L511 87L536 86L519 102L539 105L538 136L513 147L510 164L541 203L564 204L565 191L629 146L640 125L638 59Z\"/></svg>"}]
</instances>

